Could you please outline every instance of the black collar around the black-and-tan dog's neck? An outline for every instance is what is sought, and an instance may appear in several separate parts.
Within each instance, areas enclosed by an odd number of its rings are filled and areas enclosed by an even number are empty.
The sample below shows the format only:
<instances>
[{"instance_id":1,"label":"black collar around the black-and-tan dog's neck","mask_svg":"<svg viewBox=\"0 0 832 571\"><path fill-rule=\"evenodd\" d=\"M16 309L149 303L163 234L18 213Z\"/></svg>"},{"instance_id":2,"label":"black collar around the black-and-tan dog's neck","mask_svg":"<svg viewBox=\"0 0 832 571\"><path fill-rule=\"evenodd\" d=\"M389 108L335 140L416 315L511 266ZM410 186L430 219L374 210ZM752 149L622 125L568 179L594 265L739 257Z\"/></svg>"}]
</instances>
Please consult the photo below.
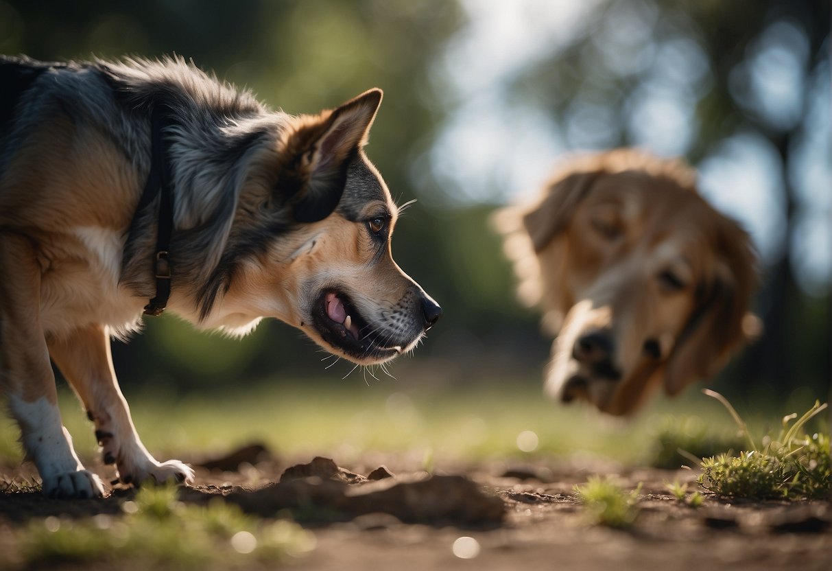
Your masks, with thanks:
<instances>
[{"instance_id":1,"label":"black collar around the black-and-tan dog's neck","mask_svg":"<svg viewBox=\"0 0 832 571\"><path fill-rule=\"evenodd\" d=\"M145 190L141 194L133 225L136 218L146 206L150 205L156 195L159 198L159 218L156 235L156 252L153 259L153 270L156 275L156 297L145 305L145 315L161 315L165 310L167 300L171 297L171 261L168 258L171 235L173 234L173 176L170 153L170 140L162 130L171 123L166 106L157 103L151 112L151 171L147 175Z\"/></svg>"}]
</instances>

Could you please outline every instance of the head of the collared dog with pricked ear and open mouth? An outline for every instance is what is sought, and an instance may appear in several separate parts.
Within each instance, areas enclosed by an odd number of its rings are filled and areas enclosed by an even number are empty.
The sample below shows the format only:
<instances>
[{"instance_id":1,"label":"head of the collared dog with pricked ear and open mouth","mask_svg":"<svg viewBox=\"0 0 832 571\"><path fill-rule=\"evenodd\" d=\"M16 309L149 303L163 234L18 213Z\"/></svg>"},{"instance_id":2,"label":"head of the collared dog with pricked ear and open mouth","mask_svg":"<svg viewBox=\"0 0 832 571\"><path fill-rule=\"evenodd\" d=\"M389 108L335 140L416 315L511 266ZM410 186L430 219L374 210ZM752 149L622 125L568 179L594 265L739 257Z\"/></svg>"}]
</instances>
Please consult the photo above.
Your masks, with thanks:
<instances>
[{"instance_id":1,"label":"head of the collared dog with pricked ear and open mouth","mask_svg":"<svg viewBox=\"0 0 832 571\"><path fill-rule=\"evenodd\" d=\"M290 117L277 144L258 151L202 290L203 325L245 333L276 317L372 365L411 350L438 320L440 307L393 260L399 209L364 154L380 102L374 89Z\"/></svg>"}]
</instances>

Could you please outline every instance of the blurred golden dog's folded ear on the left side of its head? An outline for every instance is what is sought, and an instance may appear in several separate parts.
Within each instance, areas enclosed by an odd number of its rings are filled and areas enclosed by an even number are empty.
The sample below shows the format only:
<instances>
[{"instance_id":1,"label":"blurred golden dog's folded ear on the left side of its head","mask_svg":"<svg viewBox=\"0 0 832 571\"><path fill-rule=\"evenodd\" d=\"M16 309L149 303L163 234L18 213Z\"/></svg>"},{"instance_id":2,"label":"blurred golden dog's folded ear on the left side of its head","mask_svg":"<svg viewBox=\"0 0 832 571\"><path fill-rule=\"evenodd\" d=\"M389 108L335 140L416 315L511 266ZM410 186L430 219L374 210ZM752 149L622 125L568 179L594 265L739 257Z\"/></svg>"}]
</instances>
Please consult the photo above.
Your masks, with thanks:
<instances>
[{"instance_id":1,"label":"blurred golden dog's folded ear on the left side of its head","mask_svg":"<svg viewBox=\"0 0 832 571\"><path fill-rule=\"evenodd\" d=\"M535 251L541 251L566 229L572 213L587 196L598 174L597 171L572 173L549 184L546 196L522 219Z\"/></svg>"}]
</instances>

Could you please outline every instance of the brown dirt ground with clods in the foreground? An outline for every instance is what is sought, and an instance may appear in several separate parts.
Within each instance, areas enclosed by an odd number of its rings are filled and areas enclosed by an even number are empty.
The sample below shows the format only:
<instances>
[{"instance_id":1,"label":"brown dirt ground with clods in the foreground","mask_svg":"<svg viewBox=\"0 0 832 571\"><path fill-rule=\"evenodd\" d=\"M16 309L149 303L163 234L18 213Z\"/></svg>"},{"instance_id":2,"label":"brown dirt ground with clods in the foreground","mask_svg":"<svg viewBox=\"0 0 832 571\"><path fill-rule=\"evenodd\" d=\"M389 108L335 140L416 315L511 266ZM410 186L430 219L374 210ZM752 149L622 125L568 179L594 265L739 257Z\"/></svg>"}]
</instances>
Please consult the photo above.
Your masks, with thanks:
<instances>
[{"instance_id":1,"label":"brown dirt ground with clods in the foreground","mask_svg":"<svg viewBox=\"0 0 832 571\"><path fill-rule=\"evenodd\" d=\"M263 517L286 508L300 514L316 547L297 569L828 571L832 564L832 503L706 496L693 509L666 489L674 480L696 489L689 470L495 460L437 463L425 474L418 461L404 457L366 457L339 468L326 459L276 459L258 447L194 464L204 465L197 467L196 485L181 495L186 502L222 495ZM289 469L294 464L300 466ZM26 466L0 467L0 473L32 476ZM101 474L111 477L104 468ZM640 513L630 529L588 521L574 486L591 474L616 474L625 489L642 484ZM131 494L115 489L104 499L76 501L45 499L36 491L0 494L0 569L20 569L12 530L27 519L118 514Z\"/></svg>"}]
</instances>

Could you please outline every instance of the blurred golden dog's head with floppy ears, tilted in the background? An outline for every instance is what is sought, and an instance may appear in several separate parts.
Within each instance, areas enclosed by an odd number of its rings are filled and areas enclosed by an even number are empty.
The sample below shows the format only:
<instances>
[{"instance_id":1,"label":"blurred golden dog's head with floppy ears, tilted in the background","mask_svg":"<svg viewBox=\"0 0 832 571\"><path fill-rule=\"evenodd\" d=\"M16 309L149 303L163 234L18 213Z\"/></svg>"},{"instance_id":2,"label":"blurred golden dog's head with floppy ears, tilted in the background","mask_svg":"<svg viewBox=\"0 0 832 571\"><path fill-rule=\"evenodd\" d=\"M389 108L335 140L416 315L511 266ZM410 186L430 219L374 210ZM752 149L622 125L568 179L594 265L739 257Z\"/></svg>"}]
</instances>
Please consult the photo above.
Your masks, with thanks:
<instances>
[{"instance_id":1,"label":"blurred golden dog's head with floppy ears, tilted in the background","mask_svg":"<svg viewBox=\"0 0 832 571\"><path fill-rule=\"evenodd\" d=\"M749 236L681 161L621 149L567 161L531 206L497 216L519 294L557 335L546 391L612 415L714 375L758 321Z\"/></svg>"}]
</instances>

